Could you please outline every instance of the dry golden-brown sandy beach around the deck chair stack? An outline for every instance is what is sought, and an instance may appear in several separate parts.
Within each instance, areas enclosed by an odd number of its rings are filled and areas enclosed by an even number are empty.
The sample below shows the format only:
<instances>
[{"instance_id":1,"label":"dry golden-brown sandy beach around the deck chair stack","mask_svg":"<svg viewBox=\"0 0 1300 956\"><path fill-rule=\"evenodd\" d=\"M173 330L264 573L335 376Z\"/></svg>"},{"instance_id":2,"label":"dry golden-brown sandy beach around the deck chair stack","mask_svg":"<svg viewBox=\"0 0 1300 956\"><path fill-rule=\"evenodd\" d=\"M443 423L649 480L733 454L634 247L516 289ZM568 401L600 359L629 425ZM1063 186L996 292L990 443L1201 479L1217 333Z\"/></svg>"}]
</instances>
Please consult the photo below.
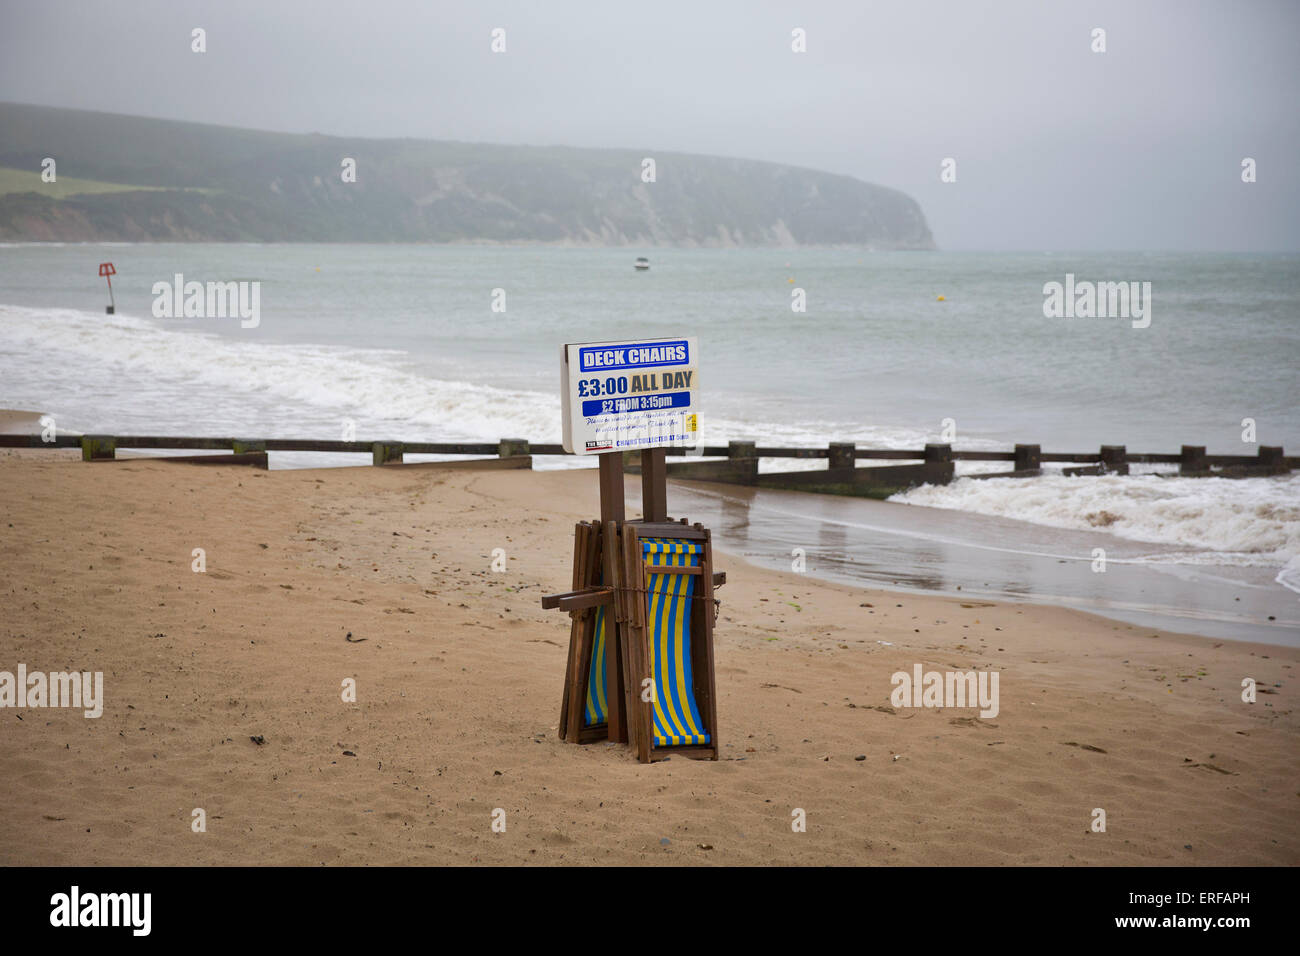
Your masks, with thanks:
<instances>
[{"instance_id":1,"label":"dry golden-brown sandy beach around the deck chair stack","mask_svg":"<svg viewBox=\"0 0 1300 956\"><path fill-rule=\"evenodd\" d=\"M540 598L595 511L592 471L0 451L0 670L105 696L0 710L0 864L1300 862L1300 652L724 553L720 760L566 744ZM890 706L918 663L1000 713Z\"/></svg>"}]
</instances>

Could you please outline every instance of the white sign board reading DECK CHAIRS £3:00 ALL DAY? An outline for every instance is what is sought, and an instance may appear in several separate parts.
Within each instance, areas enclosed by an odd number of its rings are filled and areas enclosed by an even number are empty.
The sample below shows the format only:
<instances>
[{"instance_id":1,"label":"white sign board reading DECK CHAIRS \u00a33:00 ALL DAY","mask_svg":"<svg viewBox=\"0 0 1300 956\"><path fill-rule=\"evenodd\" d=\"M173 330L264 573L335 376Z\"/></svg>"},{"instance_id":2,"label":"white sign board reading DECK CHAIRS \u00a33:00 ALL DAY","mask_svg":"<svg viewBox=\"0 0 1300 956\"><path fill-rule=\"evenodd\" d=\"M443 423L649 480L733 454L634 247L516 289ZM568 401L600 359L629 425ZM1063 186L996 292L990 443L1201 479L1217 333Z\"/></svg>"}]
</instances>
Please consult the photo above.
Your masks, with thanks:
<instances>
[{"instance_id":1,"label":"white sign board reading DECK CHAIRS \u00a33:00 ALL DAY","mask_svg":"<svg viewBox=\"0 0 1300 956\"><path fill-rule=\"evenodd\" d=\"M578 342L560 350L564 450L575 455L694 446L697 339Z\"/></svg>"}]
</instances>

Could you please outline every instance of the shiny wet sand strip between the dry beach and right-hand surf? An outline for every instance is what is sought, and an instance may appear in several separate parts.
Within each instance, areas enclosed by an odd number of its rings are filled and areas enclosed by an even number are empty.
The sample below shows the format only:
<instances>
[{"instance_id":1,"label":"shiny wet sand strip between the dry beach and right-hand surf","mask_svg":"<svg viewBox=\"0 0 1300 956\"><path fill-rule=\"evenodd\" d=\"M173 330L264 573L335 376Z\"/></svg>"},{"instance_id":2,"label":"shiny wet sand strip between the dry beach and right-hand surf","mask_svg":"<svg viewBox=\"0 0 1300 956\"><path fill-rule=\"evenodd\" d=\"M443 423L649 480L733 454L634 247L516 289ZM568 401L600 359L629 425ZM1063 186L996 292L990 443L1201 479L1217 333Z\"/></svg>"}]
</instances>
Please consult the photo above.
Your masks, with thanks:
<instances>
[{"instance_id":1,"label":"shiny wet sand strip between the dry beach and right-hand surf","mask_svg":"<svg viewBox=\"0 0 1300 956\"><path fill-rule=\"evenodd\" d=\"M1173 546L866 498L677 483L690 514L764 567L864 587L1031 601L1223 640L1300 646L1300 594L1258 567L1154 563ZM1105 571L1093 571L1093 549Z\"/></svg>"}]
</instances>

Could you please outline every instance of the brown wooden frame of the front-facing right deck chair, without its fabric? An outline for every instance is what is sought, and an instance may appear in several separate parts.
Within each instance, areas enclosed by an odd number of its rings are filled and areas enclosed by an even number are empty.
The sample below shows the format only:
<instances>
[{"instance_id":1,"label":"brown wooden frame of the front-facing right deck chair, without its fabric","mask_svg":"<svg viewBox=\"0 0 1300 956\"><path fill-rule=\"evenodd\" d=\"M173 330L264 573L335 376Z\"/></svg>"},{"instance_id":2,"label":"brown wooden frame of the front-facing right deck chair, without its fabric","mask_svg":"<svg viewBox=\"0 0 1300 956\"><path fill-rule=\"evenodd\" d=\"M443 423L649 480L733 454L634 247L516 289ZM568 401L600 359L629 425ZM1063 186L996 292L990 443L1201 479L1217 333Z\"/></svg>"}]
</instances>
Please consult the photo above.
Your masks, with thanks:
<instances>
[{"instance_id":1,"label":"brown wooden frame of the front-facing right deck chair, without its fabric","mask_svg":"<svg viewBox=\"0 0 1300 956\"><path fill-rule=\"evenodd\" d=\"M664 522L627 522L623 527L623 561L619 566L619 580L615 581L619 614L623 628L623 672L624 672L624 717L627 721L628 743L637 760L649 763L670 756L686 756L697 760L718 760L718 692L714 676L714 555L707 528L699 524ZM647 562L644 551L646 541L668 538L686 541L701 548L697 567L673 566ZM660 570L662 568L662 570ZM694 698L703 730L708 734L706 744L662 745L655 741L655 705L642 688L655 685L651 646L651 611L647 581L651 575L689 575L694 579L690 605L690 670L692 687L686 688ZM647 683L649 682L649 683Z\"/></svg>"}]
</instances>

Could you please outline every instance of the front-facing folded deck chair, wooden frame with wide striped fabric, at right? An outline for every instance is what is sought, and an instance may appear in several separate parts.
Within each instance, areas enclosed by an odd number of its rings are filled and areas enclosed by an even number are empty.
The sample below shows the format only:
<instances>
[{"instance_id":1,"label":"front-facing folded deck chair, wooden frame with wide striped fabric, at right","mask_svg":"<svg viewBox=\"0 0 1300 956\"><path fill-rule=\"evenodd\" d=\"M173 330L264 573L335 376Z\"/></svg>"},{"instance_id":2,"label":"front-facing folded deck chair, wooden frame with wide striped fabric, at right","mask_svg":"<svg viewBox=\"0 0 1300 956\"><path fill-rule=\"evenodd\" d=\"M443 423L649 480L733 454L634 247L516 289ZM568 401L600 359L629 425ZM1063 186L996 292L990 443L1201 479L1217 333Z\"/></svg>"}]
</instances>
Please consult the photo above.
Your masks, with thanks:
<instances>
[{"instance_id":1,"label":"front-facing folded deck chair, wooden frame with wide striped fabric, at right","mask_svg":"<svg viewBox=\"0 0 1300 956\"><path fill-rule=\"evenodd\" d=\"M708 532L628 523L623 538L629 743L642 762L718 760Z\"/></svg>"}]
</instances>

